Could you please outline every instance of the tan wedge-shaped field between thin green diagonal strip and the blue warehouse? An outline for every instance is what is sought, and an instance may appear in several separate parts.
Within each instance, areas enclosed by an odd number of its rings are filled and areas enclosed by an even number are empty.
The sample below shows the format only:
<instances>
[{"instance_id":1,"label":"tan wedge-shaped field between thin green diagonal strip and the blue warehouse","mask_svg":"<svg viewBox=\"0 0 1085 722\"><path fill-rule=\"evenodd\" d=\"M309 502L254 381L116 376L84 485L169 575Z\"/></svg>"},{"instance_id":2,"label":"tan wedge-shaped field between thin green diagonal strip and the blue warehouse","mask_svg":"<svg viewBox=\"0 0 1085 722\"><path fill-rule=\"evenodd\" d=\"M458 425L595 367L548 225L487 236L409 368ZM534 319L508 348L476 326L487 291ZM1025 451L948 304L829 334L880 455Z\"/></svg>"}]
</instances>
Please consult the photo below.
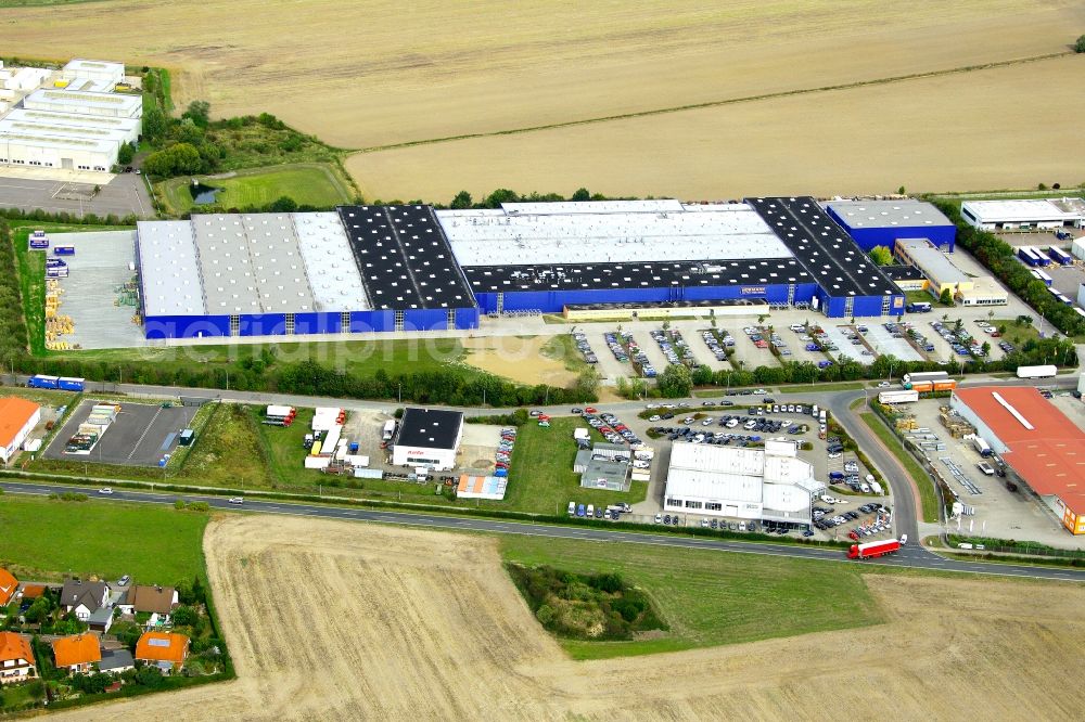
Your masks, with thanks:
<instances>
[{"instance_id":1,"label":"tan wedge-shaped field between thin green diagonal strip and the blue warehouse","mask_svg":"<svg viewBox=\"0 0 1085 722\"><path fill-rule=\"evenodd\" d=\"M1058 113L1046 113L1036 106L1037 87L1071 92ZM463 189L478 197L496 188L570 194L576 185L608 195L692 199L895 193L901 185L909 191L1069 186L1085 180L1083 116L1085 56L1073 55L360 153L346 165L368 197L444 203ZM660 138L680 142L660 143ZM432 172L435 168L456 171Z\"/></svg>"}]
</instances>

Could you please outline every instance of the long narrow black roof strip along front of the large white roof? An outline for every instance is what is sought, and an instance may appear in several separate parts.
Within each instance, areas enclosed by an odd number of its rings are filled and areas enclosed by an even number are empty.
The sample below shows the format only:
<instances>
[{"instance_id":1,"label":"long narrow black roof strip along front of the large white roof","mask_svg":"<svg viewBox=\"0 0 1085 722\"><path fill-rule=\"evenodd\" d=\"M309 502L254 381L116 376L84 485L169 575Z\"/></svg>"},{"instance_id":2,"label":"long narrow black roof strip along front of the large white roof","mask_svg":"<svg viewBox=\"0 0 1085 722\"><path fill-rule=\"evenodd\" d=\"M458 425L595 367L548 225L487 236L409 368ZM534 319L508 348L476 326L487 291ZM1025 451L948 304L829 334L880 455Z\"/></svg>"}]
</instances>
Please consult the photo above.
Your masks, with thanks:
<instances>
[{"instance_id":1,"label":"long narrow black roof strip along front of the large white roof","mask_svg":"<svg viewBox=\"0 0 1085 722\"><path fill-rule=\"evenodd\" d=\"M600 291L666 286L765 286L812 283L794 258L563 266L474 266L463 272L475 293Z\"/></svg>"}]
</instances>

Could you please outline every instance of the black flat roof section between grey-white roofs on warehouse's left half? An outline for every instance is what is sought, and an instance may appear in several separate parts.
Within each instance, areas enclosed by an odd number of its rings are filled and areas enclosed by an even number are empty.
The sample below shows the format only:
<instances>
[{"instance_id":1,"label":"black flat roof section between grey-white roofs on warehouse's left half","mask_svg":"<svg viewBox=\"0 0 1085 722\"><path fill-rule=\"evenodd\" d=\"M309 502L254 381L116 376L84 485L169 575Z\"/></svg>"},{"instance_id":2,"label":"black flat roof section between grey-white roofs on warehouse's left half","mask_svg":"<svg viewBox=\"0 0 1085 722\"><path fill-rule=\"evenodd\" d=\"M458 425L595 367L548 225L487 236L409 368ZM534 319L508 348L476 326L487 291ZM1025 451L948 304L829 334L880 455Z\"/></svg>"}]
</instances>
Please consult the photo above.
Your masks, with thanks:
<instances>
[{"instance_id":1,"label":"black flat roof section between grey-white roofs on warehouse's left half","mask_svg":"<svg viewBox=\"0 0 1085 722\"><path fill-rule=\"evenodd\" d=\"M474 306L430 206L341 206L339 214L373 308Z\"/></svg>"}]
</instances>

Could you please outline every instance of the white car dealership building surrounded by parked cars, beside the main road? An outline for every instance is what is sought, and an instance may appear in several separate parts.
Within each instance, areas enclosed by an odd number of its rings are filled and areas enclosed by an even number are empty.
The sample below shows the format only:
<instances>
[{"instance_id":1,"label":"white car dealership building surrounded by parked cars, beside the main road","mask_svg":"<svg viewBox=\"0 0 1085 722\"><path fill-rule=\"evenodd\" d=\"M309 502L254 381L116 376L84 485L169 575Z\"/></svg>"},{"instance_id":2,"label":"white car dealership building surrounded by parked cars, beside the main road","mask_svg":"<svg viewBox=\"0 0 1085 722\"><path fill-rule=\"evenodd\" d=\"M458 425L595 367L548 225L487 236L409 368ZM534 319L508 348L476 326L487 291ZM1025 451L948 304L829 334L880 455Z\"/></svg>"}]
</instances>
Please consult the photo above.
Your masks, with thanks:
<instances>
[{"instance_id":1,"label":"white car dealership building surrounded by parked cars, beside the main road","mask_svg":"<svg viewBox=\"0 0 1085 722\"><path fill-rule=\"evenodd\" d=\"M663 508L809 525L814 495L825 488L794 441L766 441L764 449L676 443Z\"/></svg>"}]
</instances>

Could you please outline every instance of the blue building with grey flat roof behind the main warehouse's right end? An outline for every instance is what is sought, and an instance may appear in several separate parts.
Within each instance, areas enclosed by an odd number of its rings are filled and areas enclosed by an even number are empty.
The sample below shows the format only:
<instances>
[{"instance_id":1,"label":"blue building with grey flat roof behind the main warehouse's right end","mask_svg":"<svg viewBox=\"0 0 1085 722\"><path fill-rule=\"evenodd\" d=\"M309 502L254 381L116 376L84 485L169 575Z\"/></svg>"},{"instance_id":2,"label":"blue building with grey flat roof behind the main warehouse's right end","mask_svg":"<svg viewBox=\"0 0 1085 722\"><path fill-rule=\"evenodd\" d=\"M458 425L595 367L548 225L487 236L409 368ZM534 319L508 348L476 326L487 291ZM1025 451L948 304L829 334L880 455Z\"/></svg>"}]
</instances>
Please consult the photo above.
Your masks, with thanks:
<instances>
[{"instance_id":1,"label":"blue building with grey flat roof behind the main warehouse's right end","mask_svg":"<svg viewBox=\"0 0 1085 722\"><path fill-rule=\"evenodd\" d=\"M830 201L825 209L866 252L875 246L892 250L901 238L929 238L953 253L957 238L954 222L924 201Z\"/></svg>"}]
</instances>

